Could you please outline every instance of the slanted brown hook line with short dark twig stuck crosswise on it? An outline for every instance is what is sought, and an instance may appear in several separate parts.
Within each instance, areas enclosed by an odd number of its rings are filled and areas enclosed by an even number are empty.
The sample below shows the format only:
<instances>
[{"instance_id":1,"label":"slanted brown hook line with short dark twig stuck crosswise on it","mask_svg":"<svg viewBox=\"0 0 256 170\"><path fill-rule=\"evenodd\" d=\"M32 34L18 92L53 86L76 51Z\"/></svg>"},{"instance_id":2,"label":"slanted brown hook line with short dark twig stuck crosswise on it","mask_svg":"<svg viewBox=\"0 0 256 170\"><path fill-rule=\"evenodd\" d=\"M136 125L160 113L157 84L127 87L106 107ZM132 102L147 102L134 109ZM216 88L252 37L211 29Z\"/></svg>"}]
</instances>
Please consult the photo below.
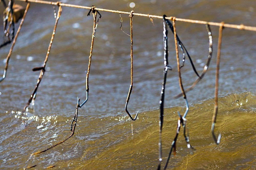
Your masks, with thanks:
<instances>
[{"instance_id":1,"label":"slanted brown hook line with short dark twig stuck crosswise on it","mask_svg":"<svg viewBox=\"0 0 256 170\"><path fill-rule=\"evenodd\" d=\"M51 47L52 47L52 42L54 40L54 37L55 37L55 34L56 34L57 25L58 25L58 21L59 21L59 18L61 16L61 12L62 12L61 6L59 4L58 4L58 6L59 6L59 10L58 10L58 14L57 14L57 17L56 17L53 33L52 33L50 44L49 44L49 47L48 47L48 50L47 50L47 53L46 53L44 64L43 64L42 67L35 67L35 68L32 69L33 71L39 71L40 70L40 74L39 74L39 77L38 77L38 80L37 80L37 83L36 83L36 87L35 87L33 93L30 95L30 98L29 98L29 100L27 102L27 105L23 109L24 112L27 111L27 108L28 108L28 106L30 104L34 105L34 102L35 102L35 99L36 99L37 89L38 89L39 84L42 81L42 78L43 78L44 73L45 73L46 63L48 61L48 57L49 57L50 50L51 50Z\"/></svg>"}]
</instances>

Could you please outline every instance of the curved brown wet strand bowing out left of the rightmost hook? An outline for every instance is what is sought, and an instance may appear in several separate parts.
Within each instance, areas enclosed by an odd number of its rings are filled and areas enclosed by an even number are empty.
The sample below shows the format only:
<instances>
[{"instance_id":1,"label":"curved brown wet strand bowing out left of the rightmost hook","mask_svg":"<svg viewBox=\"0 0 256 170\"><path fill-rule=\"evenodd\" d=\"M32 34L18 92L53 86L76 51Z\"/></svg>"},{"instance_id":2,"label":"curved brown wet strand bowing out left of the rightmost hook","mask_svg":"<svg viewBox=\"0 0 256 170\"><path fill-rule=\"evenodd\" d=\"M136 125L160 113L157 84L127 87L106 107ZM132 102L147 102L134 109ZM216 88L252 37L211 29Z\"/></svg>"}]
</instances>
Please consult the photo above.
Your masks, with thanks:
<instances>
[{"instance_id":1,"label":"curved brown wet strand bowing out left of the rightmost hook","mask_svg":"<svg viewBox=\"0 0 256 170\"><path fill-rule=\"evenodd\" d=\"M200 77L198 77L196 79L196 81L189 87L185 90L185 92L188 92L190 90L193 90L194 87L196 86L196 84L204 77L204 75L206 74L208 68L209 68L209 65L210 65L210 61L211 61L211 57L212 57L212 33L211 33L211 29L210 29L210 26L208 24L206 24L206 29L207 29L207 32L208 32L208 37L209 37L209 54L208 54L208 58L206 60L206 64L203 68L203 71L202 73L200 74ZM182 96L182 93L176 95L174 98L177 99L178 97Z\"/></svg>"}]
</instances>

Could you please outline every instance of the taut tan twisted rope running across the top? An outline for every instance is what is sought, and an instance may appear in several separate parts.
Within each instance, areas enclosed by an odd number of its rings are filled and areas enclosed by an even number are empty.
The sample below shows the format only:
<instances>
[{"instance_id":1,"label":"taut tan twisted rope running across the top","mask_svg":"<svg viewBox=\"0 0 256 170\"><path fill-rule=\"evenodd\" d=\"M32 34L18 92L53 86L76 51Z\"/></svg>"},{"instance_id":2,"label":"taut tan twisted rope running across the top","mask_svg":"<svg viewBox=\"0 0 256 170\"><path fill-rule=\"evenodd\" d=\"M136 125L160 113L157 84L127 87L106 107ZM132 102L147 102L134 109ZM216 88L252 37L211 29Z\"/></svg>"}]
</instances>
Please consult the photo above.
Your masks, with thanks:
<instances>
[{"instance_id":1,"label":"taut tan twisted rope running across the top","mask_svg":"<svg viewBox=\"0 0 256 170\"><path fill-rule=\"evenodd\" d=\"M16 0L16 1L34 2L34 3L49 4L49 5L60 5L60 6L73 7L73 8L82 8L82 9L91 9L91 7L88 7L88 6L65 4L65 3L61 3L61 2L49 2L49 1L42 1L42 0ZM130 15L130 12L125 12L125 11L103 9L103 8L95 8L95 9L99 10L99 11L106 11L106 12ZM143 17L151 17L151 18L160 18L160 19L163 18L162 16L158 16L158 15L148 15L148 14L140 14L140 13L133 13L133 15L143 16ZM165 17L165 18L166 19L172 19L173 17ZM218 26L218 27L220 27L222 25L219 22L207 22L207 21L192 20L192 19L182 19L182 18L176 18L176 21L189 22L189 23L197 23L197 24L208 24L208 25ZM240 30L248 30L248 31L256 31L256 27L245 26L243 24L236 25L236 24L224 23L223 27L235 28L235 29L240 29Z\"/></svg>"}]
</instances>

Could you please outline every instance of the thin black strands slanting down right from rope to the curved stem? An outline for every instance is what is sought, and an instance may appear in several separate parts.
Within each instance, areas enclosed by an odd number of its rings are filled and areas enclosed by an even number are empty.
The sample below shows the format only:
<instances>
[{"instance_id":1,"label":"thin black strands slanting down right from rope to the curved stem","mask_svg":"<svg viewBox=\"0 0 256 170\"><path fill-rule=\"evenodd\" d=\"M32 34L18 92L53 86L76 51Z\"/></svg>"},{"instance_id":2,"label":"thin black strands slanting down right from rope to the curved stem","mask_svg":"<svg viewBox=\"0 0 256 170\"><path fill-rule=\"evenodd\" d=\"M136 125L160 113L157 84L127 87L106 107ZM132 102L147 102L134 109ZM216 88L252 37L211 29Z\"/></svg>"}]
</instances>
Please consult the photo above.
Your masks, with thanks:
<instances>
[{"instance_id":1,"label":"thin black strands slanting down right from rope to the curved stem","mask_svg":"<svg viewBox=\"0 0 256 170\"><path fill-rule=\"evenodd\" d=\"M168 19L166 19L165 17L166 17L166 15L163 16L165 22L167 23L167 25L169 26L170 30L171 30L171 31L173 32L173 34L174 34L174 29L173 29L172 23L171 23ZM194 66L194 63L193 63L193 61L192 61L192 59L191 59L191 57L190 57L190 55L189 55L189 53L188 53L188 51L187 51L187 49L186 49L186 47L185 47L185 46L183 45L183 43L180 41L178 35L176 35L176 37L177 37L177 42L178 42L178 44L179 44L180 50L181 50L182 53L183 53L183 60L182 60L183 63L180 65L180 68L183 67L183 66L184 66L184 63L185 63L185 52L184 52L184 50L185 50L186 53L187 53L187 55L188 55L189 61L190 61L190 63L191 63L191 66L192 66L194 72L196 73L196 75L197 75L198 77L200 77L199 74L198 74L198 72L197 72L197 70L196 70L196 67Z\"/></svg>"}]
</instances>

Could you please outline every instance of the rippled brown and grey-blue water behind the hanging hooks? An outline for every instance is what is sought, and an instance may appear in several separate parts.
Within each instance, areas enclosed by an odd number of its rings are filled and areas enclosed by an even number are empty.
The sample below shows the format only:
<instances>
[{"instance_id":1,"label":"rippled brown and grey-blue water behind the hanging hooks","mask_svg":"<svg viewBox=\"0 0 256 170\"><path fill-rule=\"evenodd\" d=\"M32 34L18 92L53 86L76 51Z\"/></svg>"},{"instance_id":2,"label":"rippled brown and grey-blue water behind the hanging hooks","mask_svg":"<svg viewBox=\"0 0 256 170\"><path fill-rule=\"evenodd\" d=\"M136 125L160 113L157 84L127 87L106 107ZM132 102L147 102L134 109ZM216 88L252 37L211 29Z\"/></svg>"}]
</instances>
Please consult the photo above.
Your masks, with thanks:
<instances>
[{"instance_id":1,"label":"rippled brown and grey-blue water behind the hanging hooks","mask_svg":"<svg viewBox=\"0 0 256 170\"><path fill-rule=\"evenodd\" d=\"M132 10L130 0L65 2ZM255 1L133 2L138 13L256 26ZM25 6L25 3L17 3ZM31 4L10 59L7 77L0 83L0 169L22 169L35 164L37 169L52 165L62 169L156 169L159 94L164 66L162 20L154 19L153 26L147 17L133 17L134 84L128 110L132 115L139 110L139 115L131 124L124 111L130 86L130 37L119 28L119 14L107 12L101 12L102 19L94 40L89 100L79 109L75 135L27 161L32 152L46 149L70 135L77 96L81 100L86 97L85 71L93 25L93 17L87 17L87 13L88 10L63 7L35 105L23 115L23 107L39 74L32 68L42 65L55 23L51 5ZM128 15L121 16L122 28L129 33L130 19ZM176 26L200 72L208 56L209 39L205 26L179 21ZM256 33L230 28L223 30L216 124L216 133L221 132L222 138L217 146L210 127L218 27L211 29L214 43L211 65L205 78L187 93L190 103L187 125L191 145L196 151L190 154L184 138L179 136L177 155L171 157L168 168L254 169ZM2 29L0 33L3 33ZM10 45L0 52L1 74L9 48ZM164 162L175 136L177 111L183 113L186 109L182 99L173 99L180 92L175 58L173 35L169 33L169 63L174 69L168 72L166 85ZM188 87L196 75L188 61L181 70L184 86Z\"/></svg>"}]
</instances>

